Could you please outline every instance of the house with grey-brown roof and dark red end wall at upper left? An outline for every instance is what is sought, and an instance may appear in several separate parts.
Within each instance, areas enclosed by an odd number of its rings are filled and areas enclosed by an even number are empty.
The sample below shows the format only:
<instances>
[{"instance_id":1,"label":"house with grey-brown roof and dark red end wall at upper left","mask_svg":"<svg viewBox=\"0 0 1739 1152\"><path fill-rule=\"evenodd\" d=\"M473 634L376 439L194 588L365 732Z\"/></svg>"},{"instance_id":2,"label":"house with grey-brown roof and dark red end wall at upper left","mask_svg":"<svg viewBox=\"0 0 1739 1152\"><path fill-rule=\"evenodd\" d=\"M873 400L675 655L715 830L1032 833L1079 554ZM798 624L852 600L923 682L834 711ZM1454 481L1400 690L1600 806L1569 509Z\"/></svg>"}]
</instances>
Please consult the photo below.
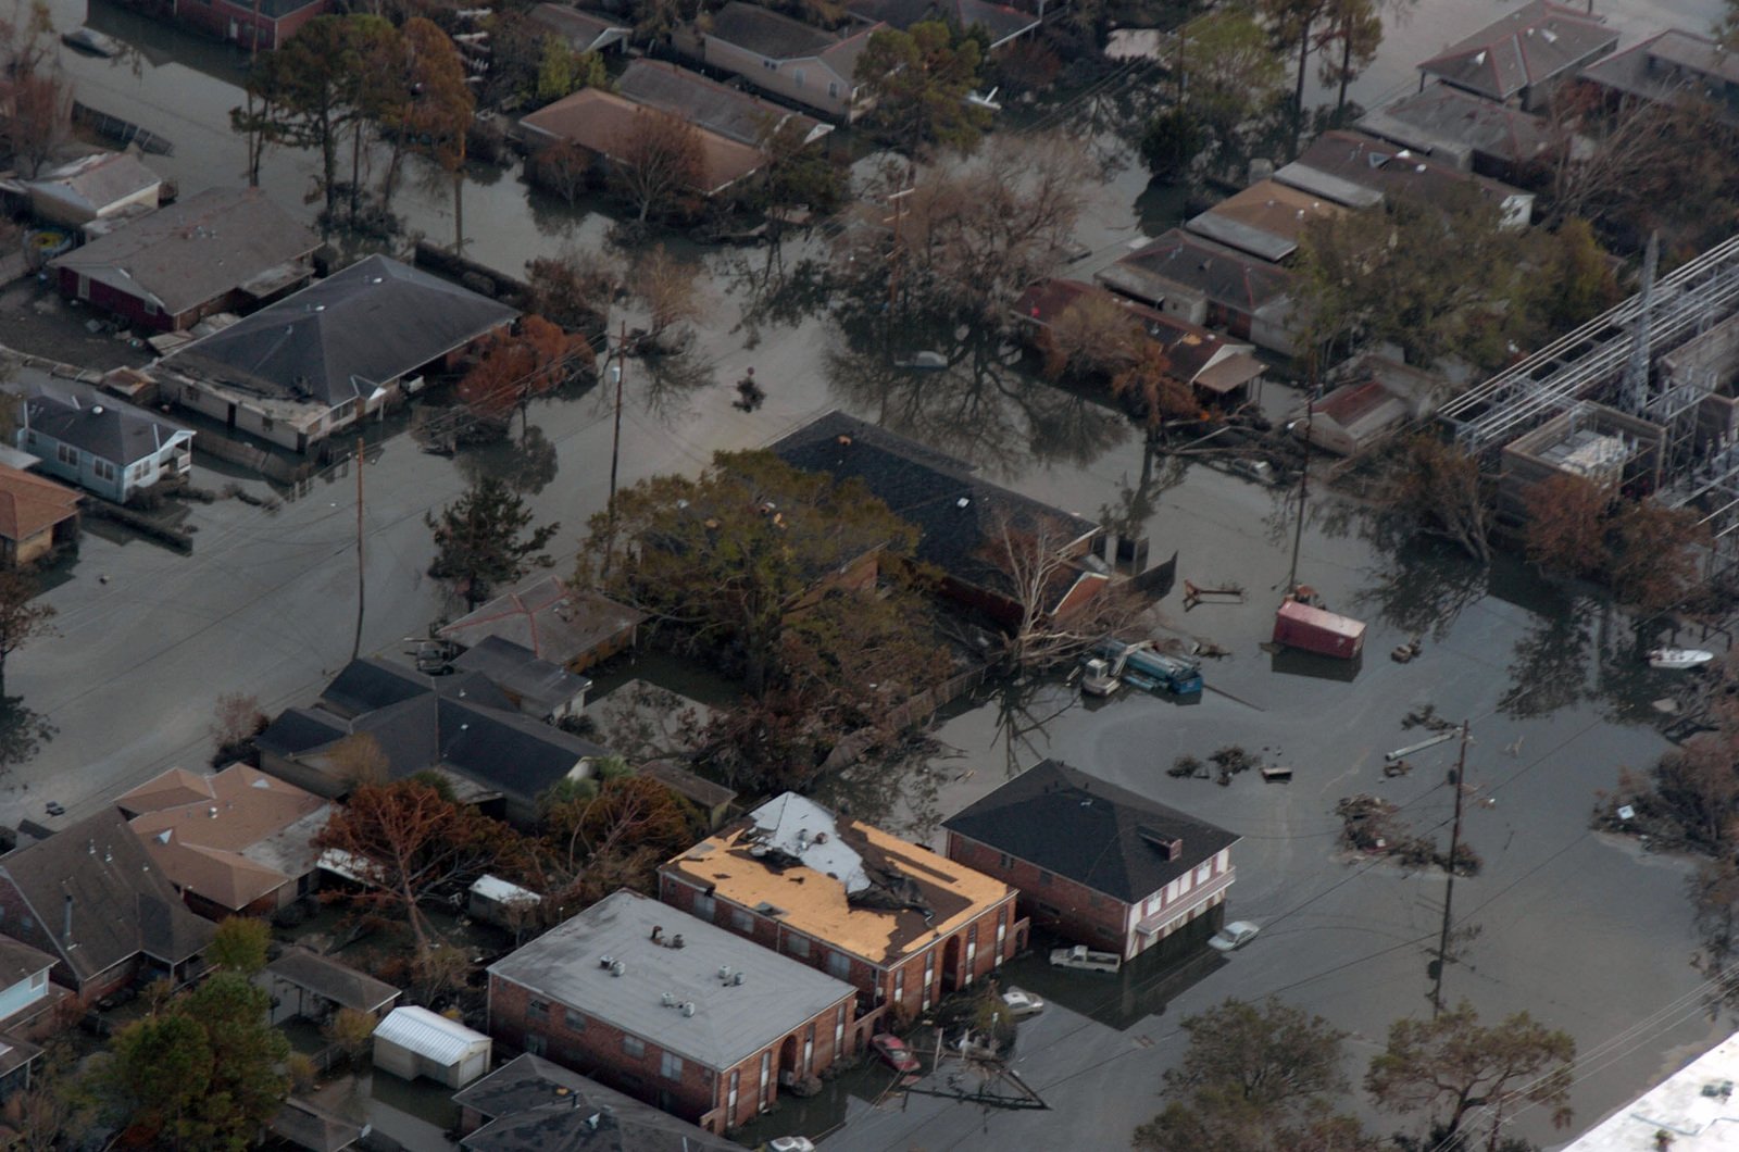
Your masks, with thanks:
<instances>
[{"instance_id":1,"label":"house with grey-brown roof and dark red end wall at upper left","mask_svg":"<svg viewBox=\"0 0 1739 1152\"><path fill-rule=\"evenodd\" d=\"M320 237L259 188L209 188L49 261L61 296L179 332L252 311L313 275Z\"/></svg>"}]
</instances>

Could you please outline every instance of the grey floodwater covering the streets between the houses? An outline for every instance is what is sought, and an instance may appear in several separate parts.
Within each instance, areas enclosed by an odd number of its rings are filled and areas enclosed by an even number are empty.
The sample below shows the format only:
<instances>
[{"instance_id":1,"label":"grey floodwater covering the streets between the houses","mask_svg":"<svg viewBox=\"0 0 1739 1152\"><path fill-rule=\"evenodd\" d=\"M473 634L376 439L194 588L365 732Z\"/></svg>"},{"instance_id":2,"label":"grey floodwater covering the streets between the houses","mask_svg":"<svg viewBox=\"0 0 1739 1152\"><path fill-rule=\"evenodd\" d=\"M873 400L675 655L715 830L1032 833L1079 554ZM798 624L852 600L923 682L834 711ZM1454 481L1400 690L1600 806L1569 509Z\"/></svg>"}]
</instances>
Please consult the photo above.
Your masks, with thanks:
<instances>
[{"instance_id":1,"label":"grey floodwater covering the streets between the houses","mask_svg":"<svg viewBox=\"0 0 1739 1152\"><path fill-rule=\"evenodd\" d=\"M242 54L106 0L90 5L97 28L139 52L118 61L66 54L78 97L174 141L174 157L151 164L184 195L240 183L243 146L228 131L228 110L240 101ZM1409 90L1416 61L1504 7L1419 0L1391 24L1383 56L1353 87L1355 99L1376 104ZM56 0L52 9L61 28L85 19L77 0ZM1607 7L1626 44L1669 24L1706 28L1720 9L1720 0ZM270 153L263 183L285 207L313 214L311 157ZM1144 184L1139 171L1125 171L1096 202L1080 235L1094 256L1069 275L1089 275L1137 233L1134 204ZM398 207L412 230L450 238L445 184L407 188ZM583 209L527 200L513 172L471 179L464 221L470 254L510 273L567 244L596 245L609 224ZM784 256L786 277L776 285L784 306L756 311L751 325L739 320L756 303L751 273L763 252L710 256L710 308L692 360L628 364L624 486L694 472L718 449L763 445L843 407L955 452L1023 492L1139 527L1155 560L1179 553L1181 578L1247 592L1243 604L1186 613L1172 593L1160 606L1167 628L1229 653L1205 668L1210 691L1198 703L1125 694L1089 707L1049 680L1007 686L946 717L936 731L943 753L909 776L864 771L831 783L823 799L849 799L854 814L939 846L943 818L1009 774L1063 757L1240 834L1229 910L1261 922L1263 936L1181 976L1137 966L1122 981L1090 985L1028 971L1021 978L1054 1004L1023 1025L1016 1067L1050 1112L981 1114L923 1098L871 1112L866 1088L828 1105L840 1108L830 1124L850 1121L830 1150L920 1142L1125 1147L1129 1131L1160 1107L1160 1075L1181 1051L1179 1016L1226 995L1278 994L1320 1011L1353 1032L1353 1062L1363 1063L1393 1018L1426 1004L1426 952L1443 882L1344 860L1332 809L1341 797L1370 792L1400 804L1414 832L1445 835L1452 745L1416 757L1409 776L1381 773L1384 752L1417 740L1402 720L1426 705L1449 720L1471 720L1468 781L1489 800L1469 806L1466 820L1483 872L1456 887L1457 921L1482 931L1450 966L1447 995L1473 997L1487 1018L1529 1008L1576 1035L1586 1058L1572 1093L1577 1128L1713 1039L1701 978L1689 964L1690 863L1588 830L1595 792L1610 788L1621 767L1647 767L1668 747L1650 701L1683 687L1643 666L1647 644L1621 618L1565 599L1513 566L1485 573L1435 550L1391 555L1356 532L1327 534L1313 524L1299 574L1330 607L1370 623L1367 654L1353 670L1275 656L1263 642L1289 555L1273 491L1205 466L1165 468L1120 414L1031 378L970 334L939 348L953 367L937 374L892 369L882 350L852 350L816 315L823 301L812 285L805 292L802 247L788 245ZM725 383L750 364L769 392L755 414L730 405ZM1271 393L1283 411L1285 392ZM362 651L396 651L450 607L426 576L431 545L423 515L478 472L537 475L530 503L541 520L560 520L556 571L570 567L588 517L605 505L609 397L591 390L537 400L529 425L523 440L461 452L457 461L424 454L403 435L372 451ZM219 489L230 480L266 491L200 461L197 484ZM195 506L200 534L190 559L92 532L75 579L49 593L61 609L61 640L12 663L12 691L42 708L59 734L37 760L12 769L0 818L40 818L47 799L64 800L68 818L77 818L163 767L197 766L209 752L203 726L216 691L257 694L270 710L306 703L351 649L355 501L355 477L344 470L278 512L233 499ZM1424 635L1424 654L1391 663L1388 651L1416 633ZM223 668L221 686L212 684L212 668ZM1221 788L1165 774L1177 755L1202 757L1231 743L1290 764L1294 781L1264 785L1243 774ZM362 1086L355 1096L376 1098L379 1086ZM1518 1131L1553 1140L1539 1110L1520 1115Z\"/></svg>"}]
</instances>

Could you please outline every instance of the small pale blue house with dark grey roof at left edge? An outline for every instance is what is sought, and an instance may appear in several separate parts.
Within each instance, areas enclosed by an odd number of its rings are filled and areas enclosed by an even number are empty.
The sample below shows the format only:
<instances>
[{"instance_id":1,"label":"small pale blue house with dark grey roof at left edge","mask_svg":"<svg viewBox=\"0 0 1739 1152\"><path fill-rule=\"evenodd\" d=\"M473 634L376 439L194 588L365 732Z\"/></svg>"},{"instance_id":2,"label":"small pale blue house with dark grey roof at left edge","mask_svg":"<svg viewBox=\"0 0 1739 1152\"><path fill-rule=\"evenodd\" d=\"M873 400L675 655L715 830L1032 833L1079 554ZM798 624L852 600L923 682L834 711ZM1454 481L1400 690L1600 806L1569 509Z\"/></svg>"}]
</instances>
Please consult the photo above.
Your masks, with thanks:
<instances>
[{"instance_id":1,"label":"small pale blue house with dark grey roof at left edge","mask_svg":"<svg viewBox=\"0 0 1739 1152\"><path fill-rule=\"evenodd\" d=\"M94 392L35 386L17 447L42 472L115 503L193 470L193 432Z\"/></svg>"}]
</instances>

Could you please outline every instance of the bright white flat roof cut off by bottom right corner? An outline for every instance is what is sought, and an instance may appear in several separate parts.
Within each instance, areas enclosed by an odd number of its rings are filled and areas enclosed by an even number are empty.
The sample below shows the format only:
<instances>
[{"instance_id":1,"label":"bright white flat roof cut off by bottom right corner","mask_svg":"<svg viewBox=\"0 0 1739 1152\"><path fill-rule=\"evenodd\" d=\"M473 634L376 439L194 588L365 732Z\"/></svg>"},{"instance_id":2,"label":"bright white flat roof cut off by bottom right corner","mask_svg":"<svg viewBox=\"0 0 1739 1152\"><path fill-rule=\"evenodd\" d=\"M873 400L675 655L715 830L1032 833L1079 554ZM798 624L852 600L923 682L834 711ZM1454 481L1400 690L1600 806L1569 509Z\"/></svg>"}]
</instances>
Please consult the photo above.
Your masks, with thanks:
<instances>
[{"instance_id":1,"label":"bright white flat roof cut off by bottom right corner","mask_svg":"<svg viewBox=\"0 0 1739 1152\"><path fill-rule=\"evenodd\" d=\"M1652 1149L1654 1135L1673 1135L1673 1152L1739 1149L1739 1105L1730 1100L1739 1082L1739 1032L1702 1053L1636 1100L1629 1102L1562 1152L1638 1152Z\"/></svg>"}]
</instances>

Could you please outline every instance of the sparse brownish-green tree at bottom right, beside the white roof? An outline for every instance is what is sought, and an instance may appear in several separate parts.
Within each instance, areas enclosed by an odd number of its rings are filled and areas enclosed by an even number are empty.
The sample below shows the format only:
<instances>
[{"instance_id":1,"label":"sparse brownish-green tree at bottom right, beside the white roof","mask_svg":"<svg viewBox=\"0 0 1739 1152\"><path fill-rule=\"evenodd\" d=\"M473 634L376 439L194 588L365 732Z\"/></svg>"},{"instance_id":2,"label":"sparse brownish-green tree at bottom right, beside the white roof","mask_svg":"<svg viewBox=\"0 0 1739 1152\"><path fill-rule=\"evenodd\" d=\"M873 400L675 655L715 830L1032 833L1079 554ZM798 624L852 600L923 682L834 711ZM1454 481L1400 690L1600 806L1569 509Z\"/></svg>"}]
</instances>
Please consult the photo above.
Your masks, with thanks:
<instances>
[{"instance_id":1,"label":"sparse brownish-green tree at bottom right, beside the white roof","mask_svg":"<svg viewBox=\"0 0 1739 1152\"><path fill-rule=\"evenodd\" d=\"M1388 1046L1372 1056L1365 1091L1389 1112L1423 1114L1447 1142L1464 1147L1487 1129L1494 1147L1518 1105L1549 1108L1555 1128L1570 1122L1570 1065L1576 1041L1529 1013L1482 1025L1468 1001L1435 1020L1396 1020ZM1468 1126L1468 1135L1461 1136ZM1461 1136L1461 1142L1456 1138Z\"/></svg>"}]
</instances>

